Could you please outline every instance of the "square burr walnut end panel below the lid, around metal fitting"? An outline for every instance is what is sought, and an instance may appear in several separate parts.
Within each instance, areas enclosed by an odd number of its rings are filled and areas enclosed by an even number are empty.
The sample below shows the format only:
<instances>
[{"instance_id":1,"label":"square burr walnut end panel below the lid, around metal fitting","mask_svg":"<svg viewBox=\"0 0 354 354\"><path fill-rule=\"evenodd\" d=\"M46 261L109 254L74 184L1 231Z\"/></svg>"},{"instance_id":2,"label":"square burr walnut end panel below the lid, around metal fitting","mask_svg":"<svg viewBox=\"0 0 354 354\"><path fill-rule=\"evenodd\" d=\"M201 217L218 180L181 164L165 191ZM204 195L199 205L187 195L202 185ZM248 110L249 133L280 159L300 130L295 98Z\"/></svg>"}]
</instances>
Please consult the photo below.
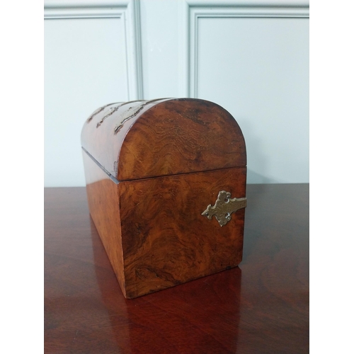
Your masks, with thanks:
<instances>
[{"instance_id":1,"label":"square burr walnut end panel below the lid, around metal fitting","mask_svg":"<svg viewBox=\"0 0 354 354\"><path fill-rule=\"evenodd\" d=\"M241 262L245 209L223 227L202 212L222 190L246 197L245 167L125 181L118 189L128 298Z\"/></svg>"}]
</instances>

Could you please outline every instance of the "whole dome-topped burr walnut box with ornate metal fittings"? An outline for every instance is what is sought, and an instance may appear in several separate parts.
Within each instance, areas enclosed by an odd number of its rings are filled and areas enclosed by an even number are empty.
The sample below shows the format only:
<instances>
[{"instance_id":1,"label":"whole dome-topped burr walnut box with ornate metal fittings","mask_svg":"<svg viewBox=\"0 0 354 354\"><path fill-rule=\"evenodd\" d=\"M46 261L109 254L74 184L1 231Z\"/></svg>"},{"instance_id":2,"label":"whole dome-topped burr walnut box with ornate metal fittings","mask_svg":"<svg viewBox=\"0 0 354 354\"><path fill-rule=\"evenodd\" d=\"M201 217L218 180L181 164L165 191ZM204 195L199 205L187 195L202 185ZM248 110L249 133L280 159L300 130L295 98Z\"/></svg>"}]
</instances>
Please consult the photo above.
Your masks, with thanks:
<instances>
[{"instance_id":1,"label":"whole dome-topped burr walnut box with ornate metal fittings","mask_svg":"<svg viewBox=\"0 0 354 354\"><path fill-rule=\"evenodd\" d=\"M236 267L246 146L219 105L111 103L81 133L89 210L127 298Z\"/></svg>"}]
</instances>

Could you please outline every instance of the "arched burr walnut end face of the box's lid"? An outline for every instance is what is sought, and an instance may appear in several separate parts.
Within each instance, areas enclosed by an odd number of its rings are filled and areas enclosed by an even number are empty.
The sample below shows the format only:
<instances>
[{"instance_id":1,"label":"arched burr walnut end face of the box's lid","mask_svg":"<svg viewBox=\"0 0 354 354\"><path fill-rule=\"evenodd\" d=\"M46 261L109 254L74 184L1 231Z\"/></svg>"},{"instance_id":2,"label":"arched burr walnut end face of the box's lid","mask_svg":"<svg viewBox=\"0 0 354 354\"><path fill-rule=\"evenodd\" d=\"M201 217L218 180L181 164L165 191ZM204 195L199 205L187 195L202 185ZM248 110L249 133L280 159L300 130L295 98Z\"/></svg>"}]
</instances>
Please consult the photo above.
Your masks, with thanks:
<instances>
[{"instance_id":1,"label":"arched burr walnut end face of the box's lid","mask_svg":"<svg viewBox=\"0 0 354 354\"><path fill-rule=\"evenodd\" d=\"M236 120L219 105L190 98L147 110L127 132L119 181L246 166L246 145Z\"/></svg>"}]
</instances>

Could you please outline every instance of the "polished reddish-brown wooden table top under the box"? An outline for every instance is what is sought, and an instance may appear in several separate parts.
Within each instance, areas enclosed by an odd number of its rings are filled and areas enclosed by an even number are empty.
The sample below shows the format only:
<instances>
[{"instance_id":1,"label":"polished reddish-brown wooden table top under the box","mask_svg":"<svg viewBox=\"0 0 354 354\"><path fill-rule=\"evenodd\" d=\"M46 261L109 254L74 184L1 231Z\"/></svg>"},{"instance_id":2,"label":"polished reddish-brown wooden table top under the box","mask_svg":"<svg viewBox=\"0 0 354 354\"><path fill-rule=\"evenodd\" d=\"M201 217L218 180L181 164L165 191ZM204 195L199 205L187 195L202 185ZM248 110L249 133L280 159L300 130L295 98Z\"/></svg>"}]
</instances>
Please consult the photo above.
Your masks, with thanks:
<instances>
[{"instance_id":1,"label":"polished reddish-brown wooden table top under the box","mask_svg":"<svg viewBox=\"0 0 354 354\"><path fill-rule=\"evenodd\" d=\"M45 353L308 353L309 185L248 185L239 267L125 299L85 188L45 188Z\"/></svg>"}]
</instances>

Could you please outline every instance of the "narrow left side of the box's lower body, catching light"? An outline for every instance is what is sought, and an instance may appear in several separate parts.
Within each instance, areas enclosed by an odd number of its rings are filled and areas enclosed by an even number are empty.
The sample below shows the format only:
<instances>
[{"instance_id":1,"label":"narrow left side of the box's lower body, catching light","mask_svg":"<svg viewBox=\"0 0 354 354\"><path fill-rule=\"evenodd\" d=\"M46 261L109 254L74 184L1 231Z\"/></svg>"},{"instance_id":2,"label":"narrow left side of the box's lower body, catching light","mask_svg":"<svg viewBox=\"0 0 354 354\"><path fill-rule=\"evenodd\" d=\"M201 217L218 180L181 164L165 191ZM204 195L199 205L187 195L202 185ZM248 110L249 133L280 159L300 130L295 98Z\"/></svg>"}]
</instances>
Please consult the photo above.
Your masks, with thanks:
<instances>
[{"instance_id":1,"label":"narrow left side of the box's lower body, catching light","mask_svg":"<svg viewBox=\"0 0 354 354\"><path fill-rule=\"evenodd\" d=\"M118 185L83 151L89 210L125 295Z\"/></svg>"}]
</instances>

